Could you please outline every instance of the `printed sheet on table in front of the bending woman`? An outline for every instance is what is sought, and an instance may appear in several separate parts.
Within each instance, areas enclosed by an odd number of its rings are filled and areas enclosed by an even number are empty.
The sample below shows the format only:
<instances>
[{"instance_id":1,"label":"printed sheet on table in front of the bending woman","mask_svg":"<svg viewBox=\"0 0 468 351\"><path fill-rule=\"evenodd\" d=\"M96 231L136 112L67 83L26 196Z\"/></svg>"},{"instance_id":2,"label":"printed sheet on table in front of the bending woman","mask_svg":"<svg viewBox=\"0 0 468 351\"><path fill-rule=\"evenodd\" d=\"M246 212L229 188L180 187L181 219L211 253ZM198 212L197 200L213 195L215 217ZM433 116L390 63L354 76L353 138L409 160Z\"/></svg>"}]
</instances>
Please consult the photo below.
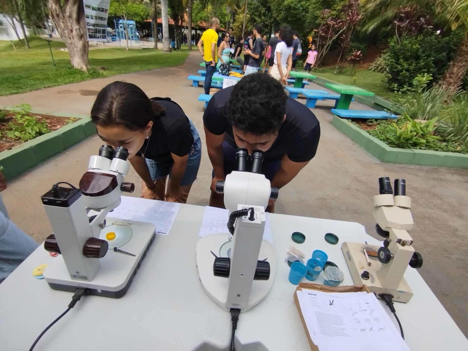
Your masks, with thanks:
<instances>
[{"instance_id":1,"label":"printed sheet on table in front of the bending woman","mask_svg":"<svg viewBox=\"0 0 468 351\"><path fill-rule=\"evenodd\" d=\"M129 196L120 198L120 205L107 216L153 223L156 226L156 234L168 235L180 210L180 204L176 202Z\"/></svg>"}]
</instances>

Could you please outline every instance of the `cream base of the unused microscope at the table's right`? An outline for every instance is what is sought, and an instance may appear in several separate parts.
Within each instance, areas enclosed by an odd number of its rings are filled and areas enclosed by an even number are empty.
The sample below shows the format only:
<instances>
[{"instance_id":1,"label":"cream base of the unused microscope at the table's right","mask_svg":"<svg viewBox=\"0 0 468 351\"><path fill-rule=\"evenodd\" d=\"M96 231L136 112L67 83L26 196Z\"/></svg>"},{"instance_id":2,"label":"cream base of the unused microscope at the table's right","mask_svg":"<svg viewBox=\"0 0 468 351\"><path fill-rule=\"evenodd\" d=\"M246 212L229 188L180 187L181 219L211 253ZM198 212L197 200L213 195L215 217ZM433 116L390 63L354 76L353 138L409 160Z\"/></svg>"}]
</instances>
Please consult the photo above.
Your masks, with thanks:
<instances>
[{"instance_id":1,"label":"cream base of the unused microscope at the table's right","mask_svg":"<svg viewBox=\"0 0 468 351\"><path fill-rule=\"evenodd\" d=\"M377 294L380 293L392 294L394 298L392 300L399 302L409 302L413 297L413 291L409 287L405 278L402 278L400 285L397 289L389 289L382 287L377 277L377 272L382 267L382 263L379 262L377 257L369 257L371 265L367 265L366 256L364 255L363 249L377 251L378 246L367 245L360 242L344 242L341 245L344 258L351 272L352 280L355 285L367 285L371 292ZM363 279L361 274L363 271L369 272L369 279Z\"/></svg>"}]
</instances>

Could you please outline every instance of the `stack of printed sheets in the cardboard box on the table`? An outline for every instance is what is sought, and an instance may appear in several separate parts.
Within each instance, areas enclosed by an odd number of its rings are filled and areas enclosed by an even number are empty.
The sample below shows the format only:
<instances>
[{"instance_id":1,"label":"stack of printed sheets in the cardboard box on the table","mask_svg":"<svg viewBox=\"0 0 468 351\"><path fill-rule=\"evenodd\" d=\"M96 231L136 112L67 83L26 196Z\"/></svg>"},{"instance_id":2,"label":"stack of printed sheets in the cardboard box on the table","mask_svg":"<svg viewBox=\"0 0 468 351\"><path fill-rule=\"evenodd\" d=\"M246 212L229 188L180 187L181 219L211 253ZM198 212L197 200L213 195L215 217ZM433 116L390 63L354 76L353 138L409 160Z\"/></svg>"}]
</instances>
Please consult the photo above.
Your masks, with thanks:
<instances>
[{"instance_id":1,"label":"stack of printed sheets in the cardboard box on the table","mask_svg":"<svg viewBox=\"0 0 468 351\"><path fill-rule=\"evenodd\" d=\"M379 351L409 351L373 294L308 289L297 294L309 335L320 351L361 351L363 340L379 345Z\"/></svg>"}]
</instances>

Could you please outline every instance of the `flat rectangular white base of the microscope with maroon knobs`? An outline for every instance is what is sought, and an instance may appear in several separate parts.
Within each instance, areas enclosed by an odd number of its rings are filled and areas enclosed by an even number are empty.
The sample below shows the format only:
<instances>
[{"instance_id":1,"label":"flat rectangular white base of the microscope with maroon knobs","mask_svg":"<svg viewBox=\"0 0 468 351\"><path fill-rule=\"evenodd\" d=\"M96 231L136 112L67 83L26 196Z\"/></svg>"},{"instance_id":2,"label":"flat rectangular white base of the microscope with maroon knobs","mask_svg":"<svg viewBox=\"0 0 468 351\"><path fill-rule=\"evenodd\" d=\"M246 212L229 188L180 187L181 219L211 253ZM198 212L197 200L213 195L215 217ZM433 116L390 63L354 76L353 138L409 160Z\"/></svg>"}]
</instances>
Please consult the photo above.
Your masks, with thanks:
<instances>
[{"instance_id":1,"label":"flat rectangular white base of the microscope with maroon knobs","mask_svg":"<svg viewBox=\"0 0 468 351\"><path fill-rule=\"evenodd\" d=\"M92 281L70 278L65 261L61 255L44 270L44 279L55 290L74 292L76 288L88 289L89 295L120 298L125 295L132 284L141 262L155 238L154 224L124 221L107 218L107 223L125 224L132 228L132 239L120 247L136 256L129 256L110 249L106 256L100 258L101 269ZM111 248L111 241L109 247ZM97 258L88 258L94 260Z\"/></svg>"}]
</instances>

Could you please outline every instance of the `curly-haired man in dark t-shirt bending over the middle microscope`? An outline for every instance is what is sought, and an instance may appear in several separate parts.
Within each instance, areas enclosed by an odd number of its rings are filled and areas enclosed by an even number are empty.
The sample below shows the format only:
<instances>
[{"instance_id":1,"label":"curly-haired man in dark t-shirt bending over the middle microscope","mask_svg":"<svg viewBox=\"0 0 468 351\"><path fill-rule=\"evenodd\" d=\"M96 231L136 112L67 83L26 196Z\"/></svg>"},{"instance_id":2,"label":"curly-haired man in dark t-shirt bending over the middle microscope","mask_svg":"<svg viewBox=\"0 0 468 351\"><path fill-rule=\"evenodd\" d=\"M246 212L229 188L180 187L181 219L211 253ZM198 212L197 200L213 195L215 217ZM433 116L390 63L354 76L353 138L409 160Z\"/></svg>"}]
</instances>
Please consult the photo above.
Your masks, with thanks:
<instances>
[{"instance_id":1,"label":"curly-haired man in dark t-shirt bending over the middle microscope","mask_svg":"<svg viewBox=\"0 0 468 351\"><path fill-rule=\"evenodd\" d=\"M320 125L305 105L286 96L280 82L255 73L212 96L203 115L206 148L213 166L210 206L224 208L216 182L236 169L235 152L264 152L262 174L282 188L315 156ZM247 169L250 169L249 167ZM266 211L274 212L275 200Z\"/></svg>"}]
</instances>

